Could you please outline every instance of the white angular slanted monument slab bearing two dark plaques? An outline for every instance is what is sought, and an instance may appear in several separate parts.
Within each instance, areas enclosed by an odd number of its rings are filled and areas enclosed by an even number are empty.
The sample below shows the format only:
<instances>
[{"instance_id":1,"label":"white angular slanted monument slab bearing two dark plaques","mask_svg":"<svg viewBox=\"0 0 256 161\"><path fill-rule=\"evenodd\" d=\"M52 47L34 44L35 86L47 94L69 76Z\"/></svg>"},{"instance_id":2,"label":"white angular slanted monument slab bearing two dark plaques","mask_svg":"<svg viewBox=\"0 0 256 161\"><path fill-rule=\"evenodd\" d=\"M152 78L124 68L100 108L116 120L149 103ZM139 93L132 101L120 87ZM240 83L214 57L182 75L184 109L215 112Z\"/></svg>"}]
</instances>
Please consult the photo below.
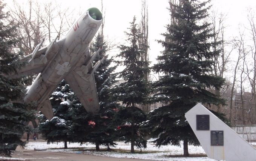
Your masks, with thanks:
<instances>
[{"instance_id":1,"label":"white angular slanted monument slab bearing two dark plaques","mask_svg":"<svg viewBox=\"0 0 256 161\"><path fill-rule=\"evenodd\" d=\"M256 149L202 104L191 108L185 117L209 158L256 161Z\"/></svg>"}]
</instances>

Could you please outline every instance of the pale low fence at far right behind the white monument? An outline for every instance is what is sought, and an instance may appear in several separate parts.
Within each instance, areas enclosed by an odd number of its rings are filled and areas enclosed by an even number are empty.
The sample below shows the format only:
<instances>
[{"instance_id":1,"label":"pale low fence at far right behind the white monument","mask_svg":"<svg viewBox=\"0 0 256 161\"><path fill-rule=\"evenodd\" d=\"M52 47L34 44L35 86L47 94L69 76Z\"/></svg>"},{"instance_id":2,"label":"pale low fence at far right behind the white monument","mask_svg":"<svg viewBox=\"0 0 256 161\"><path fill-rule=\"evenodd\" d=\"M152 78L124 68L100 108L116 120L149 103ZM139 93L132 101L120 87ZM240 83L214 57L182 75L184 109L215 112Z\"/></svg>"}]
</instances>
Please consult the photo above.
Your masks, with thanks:
<instances>
[{"instance_id":1,"label":"pale low fence at far right behind the white monument","mask_svg":"<svg viewBox=\"0 0 256 161\"><path fill-rule=\"evenodd\" d=\"M256 142L256 125L236 125L231 128L249 143Z\"/></svg>"}]
</instances>

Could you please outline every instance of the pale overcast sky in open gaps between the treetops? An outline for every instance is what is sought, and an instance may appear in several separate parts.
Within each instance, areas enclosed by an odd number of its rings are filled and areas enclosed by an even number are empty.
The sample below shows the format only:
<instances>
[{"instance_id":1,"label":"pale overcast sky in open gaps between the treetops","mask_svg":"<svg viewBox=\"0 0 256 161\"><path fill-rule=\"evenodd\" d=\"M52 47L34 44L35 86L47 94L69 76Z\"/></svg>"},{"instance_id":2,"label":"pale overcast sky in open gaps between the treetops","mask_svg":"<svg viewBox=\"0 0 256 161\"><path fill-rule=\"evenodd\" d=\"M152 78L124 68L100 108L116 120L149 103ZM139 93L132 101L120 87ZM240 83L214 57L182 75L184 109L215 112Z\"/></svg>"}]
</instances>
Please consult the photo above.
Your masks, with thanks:
<instances>
[{"instance_id":1,"label":"pale overcast sky in open gaps between the treetops","mask_svg":"<svg viewBox=\"0 0 256 161\"><path fill-rule=\"evenodd\" d=\"M18 2L26 0L17 0ZM10 4L12 0L5 0ZM56 0L61 6L68 6L75 9L97 7L101 9L101 0ZM238 24L247 23L248 8L256 7L256 0L212 0L213 9L227 14L225 25L227 26L226 37L235 37L238 33ZM123 44L129 22L135 15L140 20L141 0L103 0L105 15L104 35L111 41ZM149 10L149 42L150 61L156 63L156 57L162 51L161 44L156 39L164 39L160 34L166 32L164 26L168 24L170 16L168 0L148 0ZM79 18L79 15L77 16ZM117 49L115 50L117 51ZM115 52L111 52L115 54Z\"/></svg>"}]
</instances>

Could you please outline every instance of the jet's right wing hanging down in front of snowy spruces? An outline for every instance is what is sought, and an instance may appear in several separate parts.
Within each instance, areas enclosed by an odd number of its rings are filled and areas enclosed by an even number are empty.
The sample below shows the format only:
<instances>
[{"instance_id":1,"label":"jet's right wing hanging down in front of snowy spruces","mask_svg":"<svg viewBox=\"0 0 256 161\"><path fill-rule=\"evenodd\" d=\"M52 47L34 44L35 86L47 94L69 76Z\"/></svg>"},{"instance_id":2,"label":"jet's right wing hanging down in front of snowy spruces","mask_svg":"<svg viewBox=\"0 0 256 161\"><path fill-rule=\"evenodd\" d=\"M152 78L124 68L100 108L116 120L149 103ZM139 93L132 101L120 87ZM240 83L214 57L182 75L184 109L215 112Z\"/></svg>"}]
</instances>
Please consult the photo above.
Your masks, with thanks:
<instances>
[{"instance_id":1,"label":"jet's right wing hanging down in front of snowy spruces","mask_svg":"<svg viewBox=\"0 0 256 161\"><path fill-rule=\"evenodd\" d=\"M93 71L92 65L89 62L89 49L86 50L86 53L87 54L85 55L87 57L85 60L78 62L76 68L69 72L65 79L67 84L69 84L71 89L77 95L79 101L84 106L86 111L96 114L100 110L100 105L98 101L94 74L87 72ZM84 65L86 62L89 63Z\"/></svg>"}]
</instances>

